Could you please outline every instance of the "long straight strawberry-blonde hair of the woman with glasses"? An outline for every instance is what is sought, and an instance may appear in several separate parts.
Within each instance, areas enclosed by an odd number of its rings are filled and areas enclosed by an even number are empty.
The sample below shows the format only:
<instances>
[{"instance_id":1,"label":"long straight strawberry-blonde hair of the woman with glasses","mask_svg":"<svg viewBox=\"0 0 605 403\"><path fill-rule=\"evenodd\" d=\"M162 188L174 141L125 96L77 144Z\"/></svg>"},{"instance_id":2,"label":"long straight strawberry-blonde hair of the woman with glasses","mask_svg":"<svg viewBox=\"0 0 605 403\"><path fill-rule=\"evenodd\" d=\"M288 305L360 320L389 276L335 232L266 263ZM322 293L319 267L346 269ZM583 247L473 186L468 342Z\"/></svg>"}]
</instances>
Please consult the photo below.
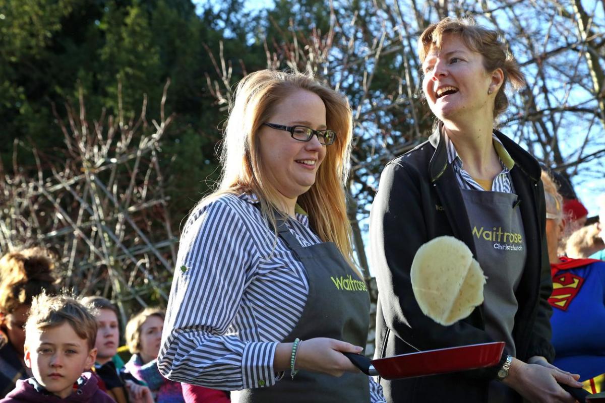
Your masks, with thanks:
<instances>
[{"instance_id":1,"label":"long straight strawberry-blonde hair of the woman with glasses","mask_svg":"<svg viewBox=\"0 0 605 403\"><path fill-rule=\"evenodd\" d=\"M224 131L221 153L223 167L215 198L224 193L255 193L261 213L276 230L273 211L283 210L280 196L267 180L260 159L258 133L276 106L296 91L310 91L325 105L325 124L336 132L336 140L326 146L315 183L298 197L298 204L309 214L310 227L324 242L334 242L352 268L356 269L351 246L351 226L347 217L345 184L353 132L352 111L347 98L320 83L311 74L286 73L270 69L244 77L237 85ZM286 214L281 211L283 218Z\"/></svg>"}]
</instances>

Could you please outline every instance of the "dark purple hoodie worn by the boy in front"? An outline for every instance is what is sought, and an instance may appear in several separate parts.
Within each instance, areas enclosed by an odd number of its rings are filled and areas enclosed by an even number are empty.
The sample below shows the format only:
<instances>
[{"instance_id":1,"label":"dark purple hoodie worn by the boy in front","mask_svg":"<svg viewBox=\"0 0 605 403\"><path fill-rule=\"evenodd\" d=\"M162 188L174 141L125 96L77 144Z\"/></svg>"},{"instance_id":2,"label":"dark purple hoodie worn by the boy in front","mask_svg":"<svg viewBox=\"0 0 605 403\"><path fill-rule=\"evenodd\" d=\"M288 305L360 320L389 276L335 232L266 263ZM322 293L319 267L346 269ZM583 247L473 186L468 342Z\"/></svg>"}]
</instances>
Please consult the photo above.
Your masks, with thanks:
<instances>
[{"instance_id":1,"label":"dark purple hoodie worn by the boy in front","mask_svg":"<svg viewBox=\"0 0 605 403\"><path fill-rule=\"evenodd\" d=\"M65 399L53 395L42 387L35 378L17 381L17 386L0 403L115 403L99 389L97 379L90 372L82 373L76 381L77 389Z\"/></svg>"}]
</instances>

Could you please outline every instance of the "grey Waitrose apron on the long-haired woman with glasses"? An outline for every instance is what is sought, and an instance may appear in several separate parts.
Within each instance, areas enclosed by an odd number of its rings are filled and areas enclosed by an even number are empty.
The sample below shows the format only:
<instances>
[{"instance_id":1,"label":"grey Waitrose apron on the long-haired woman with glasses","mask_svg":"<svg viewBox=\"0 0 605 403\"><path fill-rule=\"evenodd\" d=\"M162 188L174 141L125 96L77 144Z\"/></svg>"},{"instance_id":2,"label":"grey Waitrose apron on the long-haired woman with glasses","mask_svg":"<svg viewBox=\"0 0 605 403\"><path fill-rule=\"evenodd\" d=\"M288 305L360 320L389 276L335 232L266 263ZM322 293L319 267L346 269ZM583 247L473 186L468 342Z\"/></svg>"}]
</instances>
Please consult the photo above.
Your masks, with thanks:
<instances>
[{"instance_id":1,"label":"grey Waitrose apron on the long-haired woman with glasses","mask_svg":"<svg viewBox=\"0 0 605 403\"><path fill-rule=\"evenodd\" d=\"M329 337L365 347L370 324L370 296L332 242L302 247L286 225L278 221L278 234L304 265L309 282L301 318L282 343L299 338ZM294 379L287 370L283 379L266 388L239 393L241 403L368 403L370 387L363 373L340 377L299 371Z\"/></svg>"}]
</instances>

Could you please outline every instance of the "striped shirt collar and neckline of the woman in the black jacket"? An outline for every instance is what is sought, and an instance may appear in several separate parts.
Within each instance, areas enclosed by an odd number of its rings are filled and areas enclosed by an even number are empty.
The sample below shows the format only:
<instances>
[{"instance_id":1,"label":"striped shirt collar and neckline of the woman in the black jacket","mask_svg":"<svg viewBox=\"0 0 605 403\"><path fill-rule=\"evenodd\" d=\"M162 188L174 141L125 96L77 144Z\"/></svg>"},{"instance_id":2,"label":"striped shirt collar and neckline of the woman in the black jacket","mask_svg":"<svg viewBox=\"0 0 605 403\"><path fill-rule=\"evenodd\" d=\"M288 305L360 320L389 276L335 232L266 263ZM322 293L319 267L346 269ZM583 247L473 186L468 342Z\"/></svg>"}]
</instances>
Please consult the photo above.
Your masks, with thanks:
<instances>
[{"instance_id":1,"label":"striped shirt collar and neckline of the woman in the black jacket","mask_svg":"<svg viewBox=\"0 0 605 403\"><path fill-rule=\"evenodd\" d=\"M468 172L463 169L462 160L456 151L454 143L446 133L443 134L445 138L445 146L448 152L448 163L452 164L454 172L456 173L456 179L460 189L469 190L485 190ZM514 166L514 161L509 155L508 151L504 148L502 141L500 141L495 134L492 134L493 144L495 152L498 154L502 171L494 178L492 182L492 192L512 193L512 181L510 170Z\"/></svg>"}]
</instances>

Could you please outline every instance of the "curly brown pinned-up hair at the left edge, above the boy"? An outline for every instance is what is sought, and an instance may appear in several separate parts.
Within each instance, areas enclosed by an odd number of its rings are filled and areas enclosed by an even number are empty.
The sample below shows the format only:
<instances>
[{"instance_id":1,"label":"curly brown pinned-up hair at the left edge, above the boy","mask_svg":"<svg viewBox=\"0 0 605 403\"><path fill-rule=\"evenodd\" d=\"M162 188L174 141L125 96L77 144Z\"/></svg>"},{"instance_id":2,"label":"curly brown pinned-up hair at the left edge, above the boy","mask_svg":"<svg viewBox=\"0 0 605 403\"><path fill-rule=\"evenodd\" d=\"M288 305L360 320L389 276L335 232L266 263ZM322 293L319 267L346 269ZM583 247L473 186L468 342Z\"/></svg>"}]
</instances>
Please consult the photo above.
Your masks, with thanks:
<instances>
[{"instance_id":1,"label":"curly brown pinned-up hair at the left edge, above the boy","mask_svg":"<svg viewBox=\"0 0 605 403\"><path fill-rule=\"evenodd\" d=\"M54 259L44 248L10 252L0 259L0 312L11 314L22 305L31 305L43 291L57 292L53 276Z\"/></svg>"}]
</instances>

